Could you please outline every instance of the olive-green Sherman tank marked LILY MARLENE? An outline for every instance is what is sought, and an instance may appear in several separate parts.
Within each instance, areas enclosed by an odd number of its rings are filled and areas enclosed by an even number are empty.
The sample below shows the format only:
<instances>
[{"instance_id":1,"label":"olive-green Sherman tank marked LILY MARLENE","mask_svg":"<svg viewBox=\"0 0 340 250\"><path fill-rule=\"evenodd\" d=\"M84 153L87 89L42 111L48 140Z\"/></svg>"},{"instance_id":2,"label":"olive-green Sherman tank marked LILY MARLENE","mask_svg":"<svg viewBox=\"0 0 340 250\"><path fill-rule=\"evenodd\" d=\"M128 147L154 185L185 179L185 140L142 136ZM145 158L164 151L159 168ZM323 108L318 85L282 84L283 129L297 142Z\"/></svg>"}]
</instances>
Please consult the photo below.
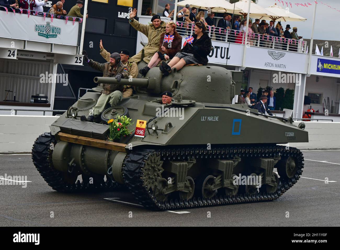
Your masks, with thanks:
<instances>
[{"instance_id":1,"label":"olive-green Sherman tank marked LILY MARLENE","mask_svg":"<svg viewBox=\"0 0 340 250\"><path fill-rule=\"evenodd\" d=\"M36 139L33 163L54 190L127 187L139 204L169 210L276 200L303 172L303 154L289 144L308 142L304 123L233 104L240 86L230 70L185 66L163 76L152 68L142 78L94 82L131 85L135 93L88 122L80 116L100 96L88 92ZM164 91L170 104L162 104ZM117 115L132 119L134 133L108 141L107 121ZM137 120L145 122L141 136Z\"/></svg>"}]
</instances>

